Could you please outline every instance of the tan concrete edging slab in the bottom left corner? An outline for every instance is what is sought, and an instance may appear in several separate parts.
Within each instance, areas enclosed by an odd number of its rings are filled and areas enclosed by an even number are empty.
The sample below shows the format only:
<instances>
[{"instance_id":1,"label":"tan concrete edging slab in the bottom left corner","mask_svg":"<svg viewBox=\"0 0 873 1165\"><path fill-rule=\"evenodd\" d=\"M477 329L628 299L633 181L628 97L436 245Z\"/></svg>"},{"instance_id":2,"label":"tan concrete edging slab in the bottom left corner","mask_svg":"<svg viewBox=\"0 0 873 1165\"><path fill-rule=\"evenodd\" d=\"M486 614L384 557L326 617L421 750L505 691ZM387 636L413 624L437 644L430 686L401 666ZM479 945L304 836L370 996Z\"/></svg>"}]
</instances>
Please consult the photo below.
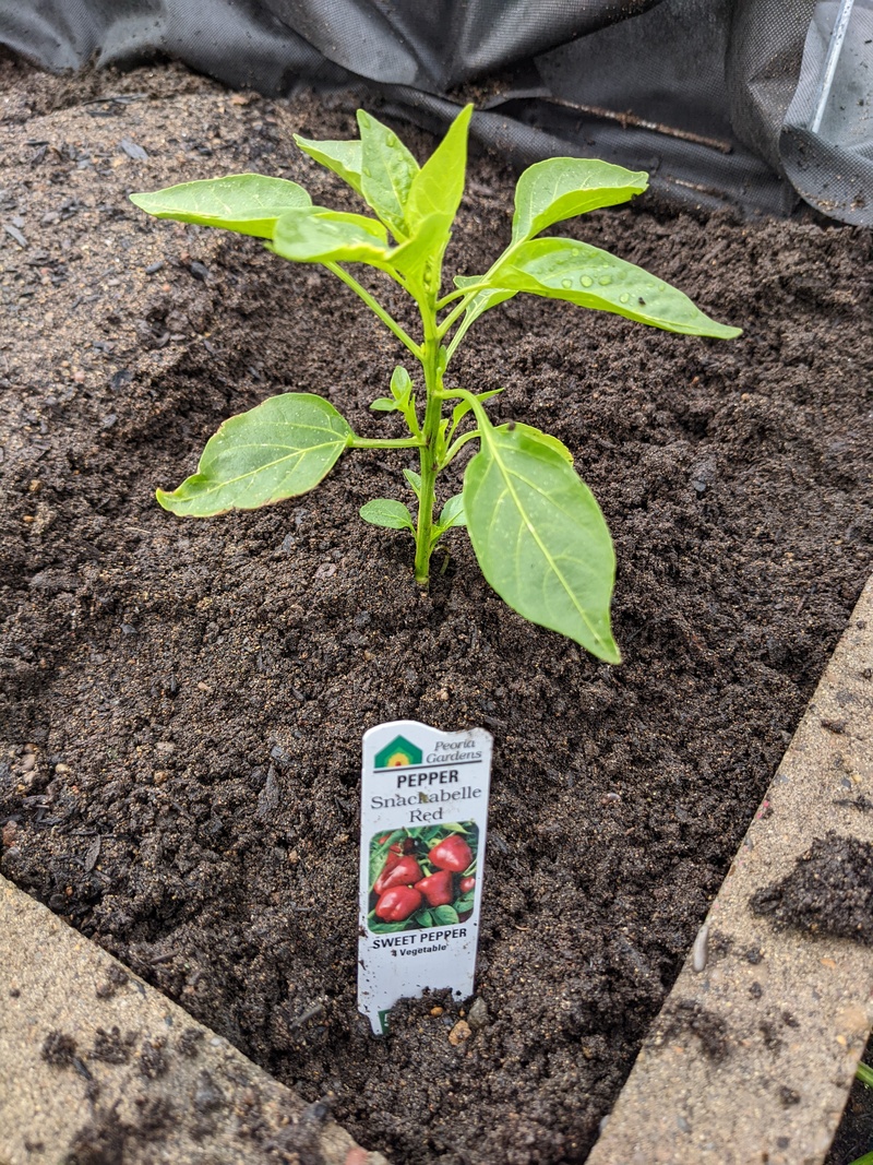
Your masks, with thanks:
<instances>
[{"instance_id":1,"label":"tan concrete edging slab in the bottom left corner","mask_svg":"<svg viewBox=\"0 0 873 1165\"><path fill-rule=\"evenodd\" d=\"M0 877L0 1165L388 1165Z\"/></svg>"}]
</instances>

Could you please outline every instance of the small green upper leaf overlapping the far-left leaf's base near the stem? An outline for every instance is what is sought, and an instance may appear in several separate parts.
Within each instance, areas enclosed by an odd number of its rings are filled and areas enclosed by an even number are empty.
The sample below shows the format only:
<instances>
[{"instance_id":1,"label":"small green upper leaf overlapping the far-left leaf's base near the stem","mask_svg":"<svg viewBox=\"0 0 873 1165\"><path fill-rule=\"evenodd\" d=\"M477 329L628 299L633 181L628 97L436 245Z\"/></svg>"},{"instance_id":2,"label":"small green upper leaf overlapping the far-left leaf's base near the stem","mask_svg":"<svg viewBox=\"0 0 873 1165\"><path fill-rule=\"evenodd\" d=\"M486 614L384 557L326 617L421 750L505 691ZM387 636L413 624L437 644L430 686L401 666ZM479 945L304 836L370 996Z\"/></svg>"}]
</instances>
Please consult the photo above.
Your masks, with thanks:
<instances>
[{"instance_id":1,"label":"small green upper leaf overlapping the far-left leaf's base near the stem","mask_svg":"<svg viewBox=\"0 0 873 1165\"><path fill-rule=\"evenodd\" d=\"M385 267L388 233L376 219L313 206L276 223L270 249L296 263L369 263Z\"/></svg>"}]
</instances>

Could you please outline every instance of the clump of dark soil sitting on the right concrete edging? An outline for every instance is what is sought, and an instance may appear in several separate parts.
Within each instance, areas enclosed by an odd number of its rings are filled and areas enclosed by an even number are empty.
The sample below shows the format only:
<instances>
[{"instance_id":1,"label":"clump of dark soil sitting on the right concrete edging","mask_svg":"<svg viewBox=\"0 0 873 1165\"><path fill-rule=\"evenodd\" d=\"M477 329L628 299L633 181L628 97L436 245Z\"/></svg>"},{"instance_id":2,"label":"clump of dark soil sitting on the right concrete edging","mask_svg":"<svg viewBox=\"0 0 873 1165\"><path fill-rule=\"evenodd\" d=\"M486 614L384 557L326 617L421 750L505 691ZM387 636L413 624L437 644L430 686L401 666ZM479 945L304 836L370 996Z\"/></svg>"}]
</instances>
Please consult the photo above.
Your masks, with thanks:
<instances>
[{"instance_id":1,"label":"clump of dark soil sitting on the right concrete edging","mask_svg":"<svg viewBox=\"0 0 873 1165\"><path fill-rule=\"evenodd\" d=\"M831 832L816 838L781 882L750 905L781 925L873 945L873 846Z\"/></svg>"}]
</instances>

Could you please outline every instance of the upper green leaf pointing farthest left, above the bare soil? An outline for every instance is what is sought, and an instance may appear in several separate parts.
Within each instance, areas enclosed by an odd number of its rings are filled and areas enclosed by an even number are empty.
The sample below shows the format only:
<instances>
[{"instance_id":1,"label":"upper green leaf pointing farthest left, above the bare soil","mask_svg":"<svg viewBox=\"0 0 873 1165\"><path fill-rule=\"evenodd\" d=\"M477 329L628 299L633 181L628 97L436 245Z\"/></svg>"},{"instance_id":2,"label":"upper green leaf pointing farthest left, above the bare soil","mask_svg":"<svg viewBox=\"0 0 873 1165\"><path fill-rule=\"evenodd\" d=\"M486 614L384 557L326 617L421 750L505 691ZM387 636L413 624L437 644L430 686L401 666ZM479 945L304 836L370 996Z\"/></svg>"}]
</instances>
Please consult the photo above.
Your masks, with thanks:
<instances>
[{"instance_id":1,"label":"upper green leaf pointing farthest left, above the bare soil","mask_svg":"<svg viewBox=\"0 0 873 1165\"><path fill-rule=\"evenodd\" d=\"M154 193L130 195L130 202L156 218L225 227L258 239L272 238L276 220L286 211L312 205L296 182L261 174L184 182Z\"/></svg>"}]
</instances>

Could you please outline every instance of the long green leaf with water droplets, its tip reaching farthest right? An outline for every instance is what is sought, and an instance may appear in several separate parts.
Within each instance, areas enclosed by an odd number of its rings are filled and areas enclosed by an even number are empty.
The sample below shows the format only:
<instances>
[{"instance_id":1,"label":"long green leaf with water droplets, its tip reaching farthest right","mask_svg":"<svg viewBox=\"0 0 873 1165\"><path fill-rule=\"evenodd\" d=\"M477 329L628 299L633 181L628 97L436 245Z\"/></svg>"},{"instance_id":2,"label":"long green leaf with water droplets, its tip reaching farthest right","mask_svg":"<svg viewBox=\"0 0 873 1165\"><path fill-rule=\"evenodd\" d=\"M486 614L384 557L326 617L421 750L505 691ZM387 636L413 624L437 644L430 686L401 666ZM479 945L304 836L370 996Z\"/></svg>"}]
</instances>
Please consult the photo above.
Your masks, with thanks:
<instances>
[{"instance_id":1,"label":"long green leaf with water droplets, its tip reaching farthest right","mask_svg":"<svg viewBox=\"0 0 873 1165\"><path fill-rule=\"evenodd\" d=\"M495 287L611 311L668 332L723 340L741 332L704 316L687 295L641 267L575 239L525 242L494 270L490 281Z\"/></svg>"}]
</instances>

